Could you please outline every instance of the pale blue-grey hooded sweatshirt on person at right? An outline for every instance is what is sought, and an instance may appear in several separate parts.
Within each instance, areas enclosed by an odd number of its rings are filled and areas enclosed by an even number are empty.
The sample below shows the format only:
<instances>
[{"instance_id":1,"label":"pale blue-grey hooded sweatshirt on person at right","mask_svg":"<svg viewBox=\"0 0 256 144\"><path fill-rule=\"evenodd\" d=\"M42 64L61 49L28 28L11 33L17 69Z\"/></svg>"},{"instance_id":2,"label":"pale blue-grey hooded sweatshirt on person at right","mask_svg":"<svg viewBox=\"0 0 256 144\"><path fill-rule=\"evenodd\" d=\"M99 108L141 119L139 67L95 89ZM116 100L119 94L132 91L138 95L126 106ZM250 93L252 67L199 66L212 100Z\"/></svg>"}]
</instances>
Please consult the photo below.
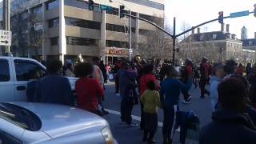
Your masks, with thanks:
<instances>
[{"instance_id":1,"label":"pale blue-grey hooded sweatshirt on person at right","mask_svg":"<svg viewBox=\"0 0 256 144\"><path fill-rule=\"evenodd\" d=\"M218 84L222 82L221 78L210 77L210 102L214 110L216 110L216 105L218 102Z\"/></svg>"}]
</instances>

